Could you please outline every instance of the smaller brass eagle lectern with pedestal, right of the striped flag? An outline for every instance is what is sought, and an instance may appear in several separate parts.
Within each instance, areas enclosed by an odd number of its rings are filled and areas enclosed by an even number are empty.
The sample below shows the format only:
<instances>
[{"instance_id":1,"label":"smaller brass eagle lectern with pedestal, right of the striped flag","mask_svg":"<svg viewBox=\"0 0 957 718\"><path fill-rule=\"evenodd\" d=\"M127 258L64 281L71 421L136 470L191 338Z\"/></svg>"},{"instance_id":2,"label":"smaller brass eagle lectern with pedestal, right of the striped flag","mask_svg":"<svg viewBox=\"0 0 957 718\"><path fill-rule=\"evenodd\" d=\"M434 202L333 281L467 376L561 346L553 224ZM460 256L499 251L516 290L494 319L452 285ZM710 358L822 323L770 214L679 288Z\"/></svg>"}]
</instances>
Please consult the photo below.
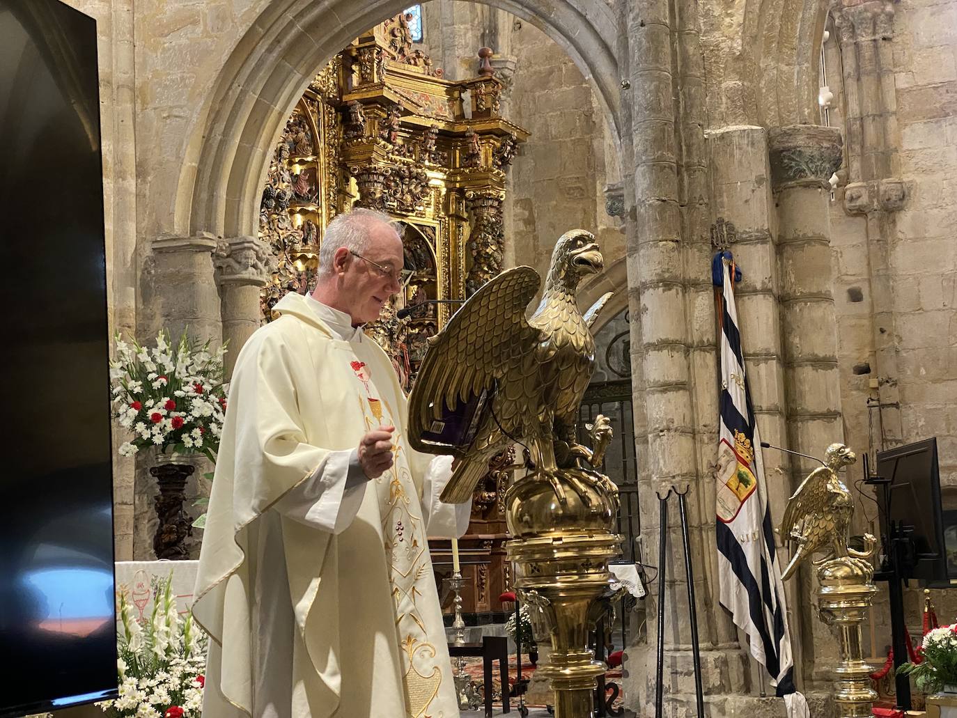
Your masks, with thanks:
<instances>
[{"instance_id":1,"label":"smaller brass eagle lectern with pedestal, right of the striped flag","mask_svg":"<svg viewBox=\"0 0 957 718\"><path fill-rule=\"evenodd\" d=\"M854 497L837 472L857 458L844 444L831 444L824 455L825 465L814 469L790 497L781 523L781 538L795 545L782 578L812 558L817 568L817 603L821 620L832 627L840 649L835 674L835 704L839 718L870 716L878 697L871 687L872 667L864 662L860 646L860 624L874 595L874 536L864 534L864 550L851 549L851 518Z\"/></svg>"}]
</instances>

